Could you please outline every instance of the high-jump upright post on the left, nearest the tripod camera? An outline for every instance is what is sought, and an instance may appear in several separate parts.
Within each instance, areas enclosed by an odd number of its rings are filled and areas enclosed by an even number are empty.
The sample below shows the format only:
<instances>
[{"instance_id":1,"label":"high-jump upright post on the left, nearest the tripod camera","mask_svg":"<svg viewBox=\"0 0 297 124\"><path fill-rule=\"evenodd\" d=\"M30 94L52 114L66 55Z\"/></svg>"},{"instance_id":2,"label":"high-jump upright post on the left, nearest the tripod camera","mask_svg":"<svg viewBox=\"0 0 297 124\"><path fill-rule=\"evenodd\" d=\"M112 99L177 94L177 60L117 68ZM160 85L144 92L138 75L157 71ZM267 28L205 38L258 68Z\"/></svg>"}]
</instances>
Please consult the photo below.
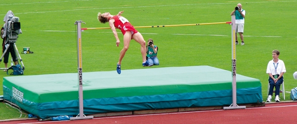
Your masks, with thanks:
<instances>
[{"instance_id":1,"label":"high-jump upright post on the left, nearest the tripod camera","mask_svg":"<svg viewBox=\"0 0 297 124\"><path fill-rule=\"evenodd\" d=\"M82 67L82 35L81 35L81 23L83 21L76 21L74 24L77 25L77 66L78 66L78 97L79 97L79 115L70 118L70 120L79 119L93 119L93 116L84 115L84 98L83 98L83 67Z\"/></svg>"}]
</instances>

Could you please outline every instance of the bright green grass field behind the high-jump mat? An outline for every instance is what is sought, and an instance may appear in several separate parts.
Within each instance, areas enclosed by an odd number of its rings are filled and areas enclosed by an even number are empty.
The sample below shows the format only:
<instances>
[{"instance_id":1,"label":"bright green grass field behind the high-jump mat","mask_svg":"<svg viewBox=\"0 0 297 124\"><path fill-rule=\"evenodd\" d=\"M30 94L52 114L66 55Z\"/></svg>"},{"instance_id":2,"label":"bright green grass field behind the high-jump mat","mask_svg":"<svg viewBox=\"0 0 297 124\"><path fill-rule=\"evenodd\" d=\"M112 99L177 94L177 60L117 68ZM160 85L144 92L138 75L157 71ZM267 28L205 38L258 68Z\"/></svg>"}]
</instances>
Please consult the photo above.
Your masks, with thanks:
<instances>
[{"instance_id":1,"label":"bright green grass field behind the high-jump mat","mask_svg":"<svg viewBox=\"0 0 297 124\"><path fill-rule=\"evenodd\" d=\"M286 64L286 91L296 87L296 20L292 8L296 0L2 0L0 17L8 10L20 18L22 34L16 43L19 52L30 47L34 54L21 54L25 75L77 72L77 20L83 28L109 27L97 20L98 12L122 14L134 26L178 25L231 21L230 13L237 3L246 10L245 45L236 46L237 73L260 79L266 100L267 63L272 51L281 52ZM152 38L159 47L160 65L154 67L209 65L225 70L232 68L231 26L228 24L137 28L145 40ZM123 36L119 30L119 38ZM240 39L240 38L239 38ZM115 71L120 47L115 46L110 29L82 32L83 72ZM123 42L122 42L123 43ZM122 69L144 68L140 45L131 41ZM3 61L0 67L4 67ZM3 94L0 72L0 95ZM147 78L149 74L144 74ZM231 76L231 74L230 74ZM282 97L281 97L282 98ZM290 94L286 93L286 100ZM281 99L281 101L284 101ZM19 118L18 111L0 104L0 120ZM9 108L9 109L7 109ZM20 118L27 118L21 116Z\"/></svg>"}]
</instances>

